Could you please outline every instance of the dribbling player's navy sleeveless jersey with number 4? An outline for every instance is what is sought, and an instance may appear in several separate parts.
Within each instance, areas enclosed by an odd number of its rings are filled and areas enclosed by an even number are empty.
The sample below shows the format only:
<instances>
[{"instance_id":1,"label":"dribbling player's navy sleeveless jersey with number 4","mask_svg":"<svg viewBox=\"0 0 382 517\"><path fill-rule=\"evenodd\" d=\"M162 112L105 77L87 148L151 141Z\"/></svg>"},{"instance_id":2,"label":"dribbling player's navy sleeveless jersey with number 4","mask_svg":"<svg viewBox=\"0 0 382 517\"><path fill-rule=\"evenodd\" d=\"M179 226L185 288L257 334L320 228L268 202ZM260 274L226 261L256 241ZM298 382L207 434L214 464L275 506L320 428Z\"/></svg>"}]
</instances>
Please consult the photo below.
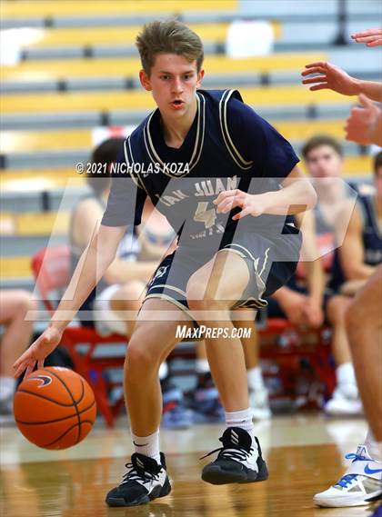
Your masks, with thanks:
<instances>
[{"instance_id":1,"label":"dribbling player's navy sleeveless jersey with number 4","mask_svg":"<svg viewBox=\"0 0 382 517\"><path fill-rule=\"evenodd\" d=\"M198 90L197 113L179 149L166 145L156 109L126 139L102 224L139 224L148 195L180 235L180 245L211 247L224 234L283 233L285 216L247 216L239 224L212 201L239 188L277 190L298 162L291 145L237 91ZM133 183L134 182L134 183ZM133 188L133 186L136 188ZM217 248L216 248L217 249Z\"/></svg>"}]
</instances>

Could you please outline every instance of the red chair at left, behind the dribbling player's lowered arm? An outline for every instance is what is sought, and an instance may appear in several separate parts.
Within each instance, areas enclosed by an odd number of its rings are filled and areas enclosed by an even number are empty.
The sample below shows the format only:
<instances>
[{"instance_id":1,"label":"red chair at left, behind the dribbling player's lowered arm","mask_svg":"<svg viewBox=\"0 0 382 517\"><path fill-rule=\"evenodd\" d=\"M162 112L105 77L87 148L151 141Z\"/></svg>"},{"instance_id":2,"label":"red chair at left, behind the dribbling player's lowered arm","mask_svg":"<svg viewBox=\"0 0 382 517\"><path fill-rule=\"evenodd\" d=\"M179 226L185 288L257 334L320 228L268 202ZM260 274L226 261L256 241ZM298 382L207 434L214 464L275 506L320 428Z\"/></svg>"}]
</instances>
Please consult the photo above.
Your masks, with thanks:
<instances>
[{"instance_id":1,"label":"red chair at left, behind the dribbling player's lowered arm","mask_svg":"<svg viewBox=\"0 0 382 517\"><path fill-rule=\"evenodd\" d=\"M60 294L56 294L56 298L52 299L52 293L63 292L70 280L69 248L67 246L42 248L32 258L32 271L45 308L52 314L61 298ZM121 393L116 401L113 403L109 401L108 392L122 383L111 382L106 378L105 373L107 369L123 367L125 354L117 357L111 354L107 356L100 353L100 348L116 346L116 343L126 345L126 336L112 334L102 337L94 329L82 326L67 327L60 343L68 351L75 371L92 386L98 410L105 418L108 427L114 426L116 416L124 403L124 397Z\"/></svg>"}]
</instances>

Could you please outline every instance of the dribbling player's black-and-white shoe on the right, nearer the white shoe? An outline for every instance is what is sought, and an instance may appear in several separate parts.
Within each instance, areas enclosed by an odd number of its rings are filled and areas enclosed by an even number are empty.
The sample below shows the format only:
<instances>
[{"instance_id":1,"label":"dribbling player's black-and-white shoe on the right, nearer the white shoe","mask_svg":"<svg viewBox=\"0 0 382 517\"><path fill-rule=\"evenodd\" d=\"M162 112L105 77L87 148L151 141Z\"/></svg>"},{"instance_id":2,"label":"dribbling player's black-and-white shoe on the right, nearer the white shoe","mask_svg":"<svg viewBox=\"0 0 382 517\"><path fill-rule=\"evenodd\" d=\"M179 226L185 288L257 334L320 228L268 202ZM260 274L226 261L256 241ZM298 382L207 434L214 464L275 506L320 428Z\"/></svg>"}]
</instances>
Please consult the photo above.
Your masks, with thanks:
<instances>
[{"instance_id":1,"label":"dribbling player's black-and-white shoe on the right, nearer the white shoe","mask_svg":"<svg viewBox=\"0 0 382 517\"><path fill-rule=\"evenodd\" d=\"M253 447L248 432L240 427L228 427L219 438L223 447L203 456L206 458L218 452L215 462L208 463L203 469L202 480L212 484L266 480L266 462L261 454L260 443L257 438L255 440L256 447Z\"/></svg>"}]
</instances>

